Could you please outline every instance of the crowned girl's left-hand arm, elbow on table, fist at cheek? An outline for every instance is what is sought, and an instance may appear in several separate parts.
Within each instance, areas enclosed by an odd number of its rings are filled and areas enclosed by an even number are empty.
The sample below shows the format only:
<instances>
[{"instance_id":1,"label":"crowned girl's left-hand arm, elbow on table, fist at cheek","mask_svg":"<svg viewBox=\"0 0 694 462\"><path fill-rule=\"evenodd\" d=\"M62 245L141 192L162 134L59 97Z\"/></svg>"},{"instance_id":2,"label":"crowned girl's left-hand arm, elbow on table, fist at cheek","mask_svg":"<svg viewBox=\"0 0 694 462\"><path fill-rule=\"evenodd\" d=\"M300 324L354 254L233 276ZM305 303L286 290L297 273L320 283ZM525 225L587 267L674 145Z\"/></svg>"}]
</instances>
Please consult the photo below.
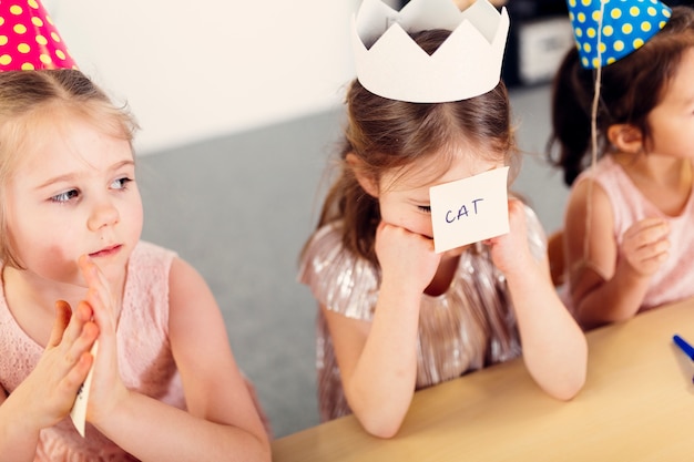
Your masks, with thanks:
<instances>
[{"instance_id":1,"label":"crowned girl's left-hand arm, elbow on table, fist at cheek","mask_svg":"<svg viewBox=\"0 0 694 462\"><path fill-rule=\"evenodd\" d=\"M415 393L421 295L438 267L433 243L381 224L376 253L381 285L371 322L326 307L326 317L347 401L364 429L395 435Z\"/></svg>"}]
</instances>

